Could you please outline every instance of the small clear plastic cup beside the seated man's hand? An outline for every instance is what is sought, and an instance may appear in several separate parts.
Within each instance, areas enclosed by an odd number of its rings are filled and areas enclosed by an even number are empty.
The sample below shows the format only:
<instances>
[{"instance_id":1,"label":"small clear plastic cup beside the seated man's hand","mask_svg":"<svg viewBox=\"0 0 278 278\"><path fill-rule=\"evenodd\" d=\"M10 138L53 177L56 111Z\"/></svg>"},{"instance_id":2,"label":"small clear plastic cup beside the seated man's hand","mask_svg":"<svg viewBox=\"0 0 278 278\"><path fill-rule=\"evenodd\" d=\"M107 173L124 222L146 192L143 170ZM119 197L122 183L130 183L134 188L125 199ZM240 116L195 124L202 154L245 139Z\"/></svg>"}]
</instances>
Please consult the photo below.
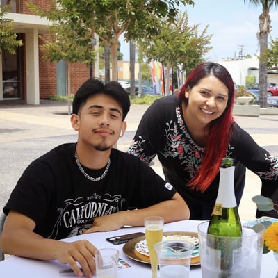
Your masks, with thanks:
<instances>
[{"instance_id":1,"label":"small clear plastic cup beside the seated man's hand","mask_svg":"<svg viewBox=\"0 0 278 278\"><path fill-rule=\"evenodd\" d=\"M101 248L95 251L98 278L117 278L119 251L115 248Z\"/></svg>"}]
</instances>

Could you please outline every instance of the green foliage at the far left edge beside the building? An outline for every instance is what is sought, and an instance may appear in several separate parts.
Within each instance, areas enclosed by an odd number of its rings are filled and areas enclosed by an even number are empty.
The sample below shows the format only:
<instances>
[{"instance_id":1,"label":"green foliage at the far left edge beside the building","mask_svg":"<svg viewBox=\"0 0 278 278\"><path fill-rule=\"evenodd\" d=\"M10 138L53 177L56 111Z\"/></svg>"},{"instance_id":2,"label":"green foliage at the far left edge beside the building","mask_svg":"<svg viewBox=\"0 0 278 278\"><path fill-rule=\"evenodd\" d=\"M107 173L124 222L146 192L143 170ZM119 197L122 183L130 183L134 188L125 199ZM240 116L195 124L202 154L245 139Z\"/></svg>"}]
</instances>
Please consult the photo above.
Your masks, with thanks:
<instances>
[{"instance_id":1,"label":"green foliage at the far left edge beside the building","mask_svg":"<svg viewBox=\"0 0 278 278\"><path fill-rule=\"evenodd\" d=\"M22 46L22 40L17 40L17 34L13 29L13 20L5 18L5 14L9 10L9 5L0 5L0 49L15 54L15 49Z\"/></svg>"}]
</instances>

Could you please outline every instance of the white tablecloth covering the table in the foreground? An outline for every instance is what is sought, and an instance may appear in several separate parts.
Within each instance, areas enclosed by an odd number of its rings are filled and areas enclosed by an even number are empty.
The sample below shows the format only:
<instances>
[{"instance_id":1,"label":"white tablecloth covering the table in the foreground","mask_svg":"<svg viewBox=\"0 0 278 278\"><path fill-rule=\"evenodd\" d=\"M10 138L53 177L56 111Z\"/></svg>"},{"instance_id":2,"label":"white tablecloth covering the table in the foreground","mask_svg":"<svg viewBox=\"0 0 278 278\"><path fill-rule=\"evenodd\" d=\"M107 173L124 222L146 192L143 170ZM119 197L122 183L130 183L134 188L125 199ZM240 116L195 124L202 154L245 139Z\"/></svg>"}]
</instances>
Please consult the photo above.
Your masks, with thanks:
<instances>
[{"instance_id":1,"label":"white tablecloth covering the table in the foreground","mask_svg":"<svg viewBox=\"0 0 278 278\"><path fill-rule=\"evenodd\" d=\"M179 221L165 224L163 231L193 231L197 232L197 225L201 221ZM112 245L106 241L109 236L117 236L122 234L130 234L135 231L144 231L144 227L129 227L117 231L108 231L103 233L85 234L67 238L65 241L75 241L81 239L90 240L96 247L115 247L120 251L120 258L131 265L130 268L120 269L118 271L119 278L147 278L151 277L151 268L147 263L140 263L130 259L122 252L123 245ZM59 270L67 268L66 265L60 264L58 261L37 261L33 259L24 259L17 256L10 256L8 259L0 262L0 277L2 278L72 278L73 274L59 274ZM263 254L261 266L261 278L275 278L277 273L277 263L272 252ZM199 265L191 266L190 278L201 278L201 268ZM247 277L249 278L249 277ZM251 277L252 278L252 277Z\"/></svg>"}]
</instances>

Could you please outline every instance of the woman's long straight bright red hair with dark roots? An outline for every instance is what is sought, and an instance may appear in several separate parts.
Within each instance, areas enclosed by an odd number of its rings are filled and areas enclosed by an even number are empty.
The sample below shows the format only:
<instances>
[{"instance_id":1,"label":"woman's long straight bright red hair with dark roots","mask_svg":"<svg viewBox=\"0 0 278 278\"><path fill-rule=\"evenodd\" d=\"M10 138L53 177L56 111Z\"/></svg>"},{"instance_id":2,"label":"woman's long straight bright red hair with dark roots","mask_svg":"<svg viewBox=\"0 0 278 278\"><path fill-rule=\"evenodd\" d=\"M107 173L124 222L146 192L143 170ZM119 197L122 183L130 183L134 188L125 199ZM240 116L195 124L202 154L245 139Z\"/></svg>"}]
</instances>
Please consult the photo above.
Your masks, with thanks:
<instances>
[{"instance_id":1,"label":"woman's long straight bright red hair with dark roots","mask_svg":"<svg viewBox=\"0 0 278 278\"><path fill-rule=\"evenodd\" d=\"M188 186L196 188L204 192L210 186L213 179L218 174L221 160L226 156L227 147L231 138L231 126L234 122L232 115L234 105L234 81L225 67L217 63L206 62L195 67L190 72L186 83L179 91L179 98L185 101L187 88L193 88L201 79L213 75L218 78L229 90L229 99L227 107L218 119L208 124L208 138L206 138L206 150L202 159L202 163L195 177L193 177Z\"/></svg>"}]
</instances>

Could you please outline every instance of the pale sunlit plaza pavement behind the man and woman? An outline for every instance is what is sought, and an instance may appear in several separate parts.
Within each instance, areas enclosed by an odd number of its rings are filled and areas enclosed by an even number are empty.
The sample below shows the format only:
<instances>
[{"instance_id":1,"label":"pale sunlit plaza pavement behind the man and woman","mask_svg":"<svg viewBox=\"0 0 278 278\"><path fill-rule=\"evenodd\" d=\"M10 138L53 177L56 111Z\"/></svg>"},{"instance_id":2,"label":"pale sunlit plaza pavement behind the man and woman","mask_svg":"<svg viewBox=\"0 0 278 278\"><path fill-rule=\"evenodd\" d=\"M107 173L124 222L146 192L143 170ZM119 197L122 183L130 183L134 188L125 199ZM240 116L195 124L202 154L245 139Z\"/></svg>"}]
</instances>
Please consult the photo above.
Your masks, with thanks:
<instances>
[{"instance_id":1,"label":"pale sunlit plaza pavement behind the man and woman","mask_svg":"<svg viewBox=\"0 0 278 278\"><path fill-rule=\"evenodd\" d=\"M126 133L118 140L117 149L125 152L129 147L147 108L146 105L131 105L126 117ZM57 101L44 100L38 106L22 101L0 101L0 208L33 159L64 142L76 142L77 134L70 124L68 111L67 103ZM278 156L278 115L235 116L235 120L259 145ZM152 167L163 177L157 158ZM256 205L251 198L259 195L260 190L259 177L247 170L245 191L239 207L242 219L254 219Z\"/></svg>"}]
</instances>

